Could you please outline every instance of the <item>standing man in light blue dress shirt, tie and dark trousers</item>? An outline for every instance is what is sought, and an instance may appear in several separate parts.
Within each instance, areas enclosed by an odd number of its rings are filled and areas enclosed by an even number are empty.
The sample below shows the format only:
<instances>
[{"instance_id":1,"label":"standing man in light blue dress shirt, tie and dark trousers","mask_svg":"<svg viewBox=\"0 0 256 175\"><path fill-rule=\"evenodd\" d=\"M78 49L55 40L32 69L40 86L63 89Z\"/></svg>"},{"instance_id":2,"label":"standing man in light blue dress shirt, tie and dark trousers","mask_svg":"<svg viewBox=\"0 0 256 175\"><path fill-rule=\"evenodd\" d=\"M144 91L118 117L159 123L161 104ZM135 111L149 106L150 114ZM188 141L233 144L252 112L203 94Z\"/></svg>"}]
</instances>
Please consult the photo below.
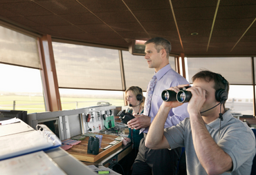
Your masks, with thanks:
<instances>
[{"instance_id":1,"label":"standing man in light blue dress shirt, tie and dark trousers","mask_svg":"<svg viewBox=\"0 0 256 175\"><path fill-rule=\"evenodd\" d=\"M145 137L147 136L150 124L163 103L161 98L163 90L182 84L189 85L189 83L183 76L171 68L169 63L171 43L167 39L156 37L149 39L145 45L145 59L149 68L154 68L155 70L156 85L152 94L148 116L143 114L128 122L128 127L131 129L139 130L145 128L143 130L144 138L140 141L139 152L133 165L132 174L176 174L176 165L179 161L181 148L174 150L151 150L145 147ZM146 96L146 102L147 98ZM186 117L189 117L187 104L176 107L170 110L165 121L165 127L176 125Z\"/></svg>"}]
</instances>

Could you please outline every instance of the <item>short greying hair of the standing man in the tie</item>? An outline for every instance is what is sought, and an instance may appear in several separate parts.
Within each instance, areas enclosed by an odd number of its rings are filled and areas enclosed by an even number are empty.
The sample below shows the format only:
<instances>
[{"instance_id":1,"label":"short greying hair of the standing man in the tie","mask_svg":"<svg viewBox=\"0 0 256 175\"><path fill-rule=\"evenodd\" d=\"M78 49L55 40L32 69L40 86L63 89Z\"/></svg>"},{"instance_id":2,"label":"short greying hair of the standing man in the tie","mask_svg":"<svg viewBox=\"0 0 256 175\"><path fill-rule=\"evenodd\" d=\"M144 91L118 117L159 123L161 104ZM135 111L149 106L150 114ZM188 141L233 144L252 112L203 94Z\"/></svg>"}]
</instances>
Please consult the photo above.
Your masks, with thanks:
<instances>
[{"instance_id":1,"label":"short greying hair of the standing man in the tie","mask_svg":"<svg viewBox=\"0 0 256 175\"><path fill-rule=\"evenodd\" d=\"M167 58L169 58L169 54L172 50L172 45L167 39L156 37L156 38L147 40L145 42L145 45L147 45L148 43L154 43L155 44L154 46L157 52L159 52L161 49L165 49Z\"/></svg>"}]
</instances>

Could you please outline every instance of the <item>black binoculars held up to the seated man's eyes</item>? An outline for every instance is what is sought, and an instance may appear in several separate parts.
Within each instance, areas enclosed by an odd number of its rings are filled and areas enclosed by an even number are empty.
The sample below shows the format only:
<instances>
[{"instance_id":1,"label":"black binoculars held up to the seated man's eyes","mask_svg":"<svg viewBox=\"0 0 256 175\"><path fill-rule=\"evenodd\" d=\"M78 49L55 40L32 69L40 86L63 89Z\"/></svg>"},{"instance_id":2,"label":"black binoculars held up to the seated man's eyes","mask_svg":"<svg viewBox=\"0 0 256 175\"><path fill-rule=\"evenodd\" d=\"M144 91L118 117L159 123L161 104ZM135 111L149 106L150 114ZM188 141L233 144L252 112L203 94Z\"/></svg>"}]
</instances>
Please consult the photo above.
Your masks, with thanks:
<instances>
[{"instance_id":1,"label":"black binoculars held up to the seated man's eyes","mask_svg":"<svg viewBox=\"0 0 256 175\"><path fill-rule=\"evenodd\" d=\"M180 88L178 93L173 90L163 90L162 99L163 101L179 101L179 103L189 102L192 94L190 91L186 91L186 89L190 88L190 86L185 86Z\"/></svg>"}]
</instances>

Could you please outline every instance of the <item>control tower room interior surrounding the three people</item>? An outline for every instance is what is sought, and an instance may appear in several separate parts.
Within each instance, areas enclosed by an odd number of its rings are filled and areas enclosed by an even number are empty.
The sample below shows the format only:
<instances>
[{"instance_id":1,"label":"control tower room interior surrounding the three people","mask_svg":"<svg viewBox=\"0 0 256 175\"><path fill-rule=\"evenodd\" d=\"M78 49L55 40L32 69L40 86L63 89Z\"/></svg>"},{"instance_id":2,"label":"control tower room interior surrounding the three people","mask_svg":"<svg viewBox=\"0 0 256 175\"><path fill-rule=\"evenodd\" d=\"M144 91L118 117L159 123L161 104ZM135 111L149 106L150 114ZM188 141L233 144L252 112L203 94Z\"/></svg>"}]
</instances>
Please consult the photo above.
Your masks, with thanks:
<instances>
[{"instance_id":1,"label":"control tower room interior surrounding the three people","mask_svg":"<svg viewBox=\"0 0 256 175\"><path fill-rule=\"evenodd\" d=\"M130 173L120 168L133 144L122 143L129 128L118 113L129 108L129 87L147 94L154 69L144 43L154 37L170 41L169 63L191 85L201 70L224 76L225 107L254 129L255 9L255 0L0 1L0 122L12 123L0 125L2 150L12 136L56 136L55 146L33 152L0 151L6 174L21 156L42 172L30 154L58 174Z\"/></svg>"}]
</instances>

